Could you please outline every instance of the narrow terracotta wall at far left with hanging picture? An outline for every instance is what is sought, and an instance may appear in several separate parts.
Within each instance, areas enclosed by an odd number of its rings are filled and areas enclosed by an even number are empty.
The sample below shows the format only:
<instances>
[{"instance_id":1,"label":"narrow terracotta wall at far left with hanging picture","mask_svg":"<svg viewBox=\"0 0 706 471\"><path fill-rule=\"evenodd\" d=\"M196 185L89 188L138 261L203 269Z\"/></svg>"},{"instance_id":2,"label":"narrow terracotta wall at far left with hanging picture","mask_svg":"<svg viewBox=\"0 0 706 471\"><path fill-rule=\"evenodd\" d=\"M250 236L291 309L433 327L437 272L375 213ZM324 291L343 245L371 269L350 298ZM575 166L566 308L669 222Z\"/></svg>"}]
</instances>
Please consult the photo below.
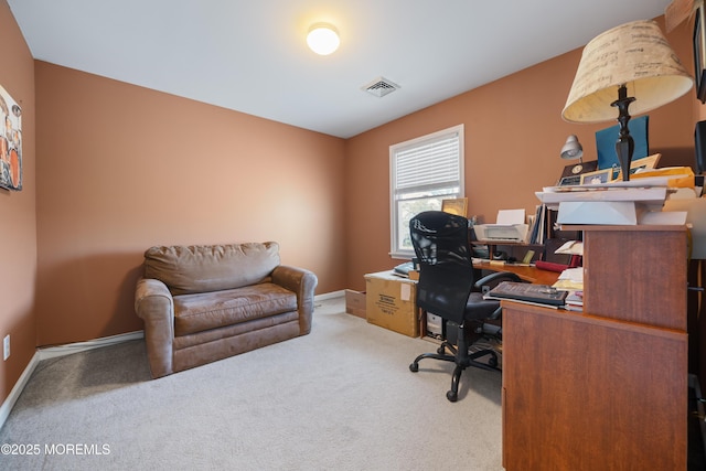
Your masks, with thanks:
<instances>
[{"instance_id":1,"label":"narrow terracotta wall at far left with hanging picture","mask_svg":"<svg viewBox=\"0 0 706 471\"><path fill-rule=\"evenodd\" d=\"M0 356L2 404L36 345L34 61L4 0L0 0L0 85L22 108L23 164L22 191L0 190L0 341L9 334L11 346L7 361Z\"/></svg>"}]
</instances>

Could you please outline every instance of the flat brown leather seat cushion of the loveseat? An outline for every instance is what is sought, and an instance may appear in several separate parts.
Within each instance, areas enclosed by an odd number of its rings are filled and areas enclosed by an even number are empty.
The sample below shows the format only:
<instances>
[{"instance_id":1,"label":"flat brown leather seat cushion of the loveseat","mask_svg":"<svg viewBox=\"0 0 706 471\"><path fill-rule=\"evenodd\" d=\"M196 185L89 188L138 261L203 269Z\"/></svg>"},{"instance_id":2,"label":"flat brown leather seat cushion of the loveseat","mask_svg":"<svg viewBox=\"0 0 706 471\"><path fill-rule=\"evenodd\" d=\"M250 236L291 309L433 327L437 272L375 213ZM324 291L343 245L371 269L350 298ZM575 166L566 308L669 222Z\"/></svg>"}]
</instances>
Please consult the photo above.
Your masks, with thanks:
<instances>
[{"instance_id":1,"label":"flat brown leather seat cushion of the loveseat","mask_svg":"<svg viewBox=\"0 0 706 471\"><path fill-rule=\"evenodd\" d=\"M174 297L174 335L188 335L297 310L297 295L278 285Z\"/></svg>"}]
</instances>

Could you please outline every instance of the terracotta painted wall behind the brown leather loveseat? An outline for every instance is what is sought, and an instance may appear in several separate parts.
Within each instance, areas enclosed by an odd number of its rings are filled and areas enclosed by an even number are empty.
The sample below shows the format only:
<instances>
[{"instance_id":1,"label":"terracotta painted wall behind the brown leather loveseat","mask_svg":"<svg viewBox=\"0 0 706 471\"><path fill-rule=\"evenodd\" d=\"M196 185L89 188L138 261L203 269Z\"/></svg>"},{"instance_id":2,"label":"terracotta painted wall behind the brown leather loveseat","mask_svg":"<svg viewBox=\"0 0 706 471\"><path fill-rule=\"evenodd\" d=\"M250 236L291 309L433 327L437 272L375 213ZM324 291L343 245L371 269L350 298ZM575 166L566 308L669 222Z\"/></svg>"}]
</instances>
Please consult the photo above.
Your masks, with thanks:
<instances>
[{"instance_id":1,"label":"terracotta painted wall behind the brown leather loveseat","mask_svg":"<svg viewBox=\"0 0 706 471\"><path fill-rule=\"evenodd\" d=\"M36 62L38 345L142 329L152 245L277 240L342 289L341 139Z\"/></svg>"}]
</instances>

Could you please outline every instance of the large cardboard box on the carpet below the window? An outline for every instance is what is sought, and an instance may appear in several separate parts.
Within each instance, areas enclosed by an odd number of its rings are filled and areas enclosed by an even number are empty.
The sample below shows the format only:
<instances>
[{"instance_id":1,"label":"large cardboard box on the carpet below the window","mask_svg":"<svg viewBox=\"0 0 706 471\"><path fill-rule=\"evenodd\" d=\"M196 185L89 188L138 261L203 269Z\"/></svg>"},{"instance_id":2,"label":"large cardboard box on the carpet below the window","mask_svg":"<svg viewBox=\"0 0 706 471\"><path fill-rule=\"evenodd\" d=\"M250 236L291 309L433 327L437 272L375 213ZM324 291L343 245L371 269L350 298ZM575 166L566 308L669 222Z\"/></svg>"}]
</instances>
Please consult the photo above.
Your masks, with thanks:
<instances>
[{"instance_id":1,"label":"large cardboard box on the carpet below the window","mask_svg":"<svg viewBox=\"0 0 706 471\"><path fill-rule=\"evenodd\" d=\"M417 283L392 271L365 275L367 322L392 331L419 336Z\"/></svg>"}]
</instances>

